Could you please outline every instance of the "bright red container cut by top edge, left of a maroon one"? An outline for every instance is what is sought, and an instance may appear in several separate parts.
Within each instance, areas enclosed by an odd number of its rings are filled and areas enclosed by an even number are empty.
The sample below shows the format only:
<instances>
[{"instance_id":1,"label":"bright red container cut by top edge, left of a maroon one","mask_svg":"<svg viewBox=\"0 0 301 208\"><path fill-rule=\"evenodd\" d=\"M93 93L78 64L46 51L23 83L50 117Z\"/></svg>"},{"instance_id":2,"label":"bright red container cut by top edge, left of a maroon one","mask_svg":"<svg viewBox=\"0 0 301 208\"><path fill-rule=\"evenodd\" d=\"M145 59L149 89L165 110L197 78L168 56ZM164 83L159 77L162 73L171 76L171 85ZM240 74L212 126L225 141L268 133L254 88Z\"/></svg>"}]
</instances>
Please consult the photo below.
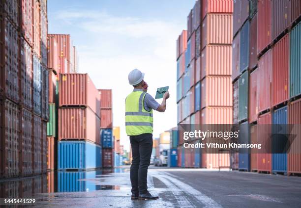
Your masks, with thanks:
<instances>
[{"instance_id":1,"label":"bright red container cut by top edge, left of a maroon one","mask_svg":"<svg viewBox=\"0 0 301 208\"><path fill-rule=\"evenodd\" d=\"M257 8L257 54L259 54L271 43L271 0L258 0Z\"/></svg>"}]
</instances>

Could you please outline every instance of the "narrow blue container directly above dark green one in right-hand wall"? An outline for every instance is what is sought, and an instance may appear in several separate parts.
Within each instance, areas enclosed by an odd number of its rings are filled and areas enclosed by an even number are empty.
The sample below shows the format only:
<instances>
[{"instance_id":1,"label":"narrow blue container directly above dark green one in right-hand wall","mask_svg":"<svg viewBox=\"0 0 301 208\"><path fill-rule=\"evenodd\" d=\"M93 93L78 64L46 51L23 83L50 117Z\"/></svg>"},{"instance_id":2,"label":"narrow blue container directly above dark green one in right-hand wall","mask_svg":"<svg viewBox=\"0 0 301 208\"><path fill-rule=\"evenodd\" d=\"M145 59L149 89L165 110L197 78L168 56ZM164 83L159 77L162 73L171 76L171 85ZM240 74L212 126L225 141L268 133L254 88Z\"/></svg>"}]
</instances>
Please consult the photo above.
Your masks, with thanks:
<instances>
[{"instance_id":1,"label":"narrow blue container directly above dark green one in right-hand wall","mask_svg":"<svg viewBox=\"0 0 301 208\"><path fill-rule=\"evenodd\" d=\"M243 72L249 67L249 32L250 22L247 21L241 27L241 44L240 44L240 72Z\"/></svg>"}]
</instances>

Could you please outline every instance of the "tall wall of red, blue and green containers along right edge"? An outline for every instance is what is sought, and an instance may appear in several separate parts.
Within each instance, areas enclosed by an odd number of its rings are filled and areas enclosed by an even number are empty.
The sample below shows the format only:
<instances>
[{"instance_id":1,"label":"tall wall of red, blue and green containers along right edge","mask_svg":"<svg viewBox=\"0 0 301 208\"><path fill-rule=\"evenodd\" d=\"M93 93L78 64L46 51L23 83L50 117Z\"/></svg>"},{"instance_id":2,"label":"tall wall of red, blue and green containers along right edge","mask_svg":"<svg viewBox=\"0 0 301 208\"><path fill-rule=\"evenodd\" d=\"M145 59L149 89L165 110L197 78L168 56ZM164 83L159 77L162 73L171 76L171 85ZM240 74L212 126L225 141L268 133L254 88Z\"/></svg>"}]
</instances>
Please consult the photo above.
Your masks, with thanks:
<instances>
[{"instance_id":1,"label":"tall wall of red, blue and green containers along right edge","mask_svg":"<svg viewBox=\"0 0 301 208\"><path fill-rule=\"evenodd\" d=\"M300 124L300 20L299 0L234 2L233 123L252 124L245 131L248 142L268 139L261 132L263 125ZM232 157L238 157L234 169L301 173L300 154L251 152Z\"/></svg>"}]
</instances>

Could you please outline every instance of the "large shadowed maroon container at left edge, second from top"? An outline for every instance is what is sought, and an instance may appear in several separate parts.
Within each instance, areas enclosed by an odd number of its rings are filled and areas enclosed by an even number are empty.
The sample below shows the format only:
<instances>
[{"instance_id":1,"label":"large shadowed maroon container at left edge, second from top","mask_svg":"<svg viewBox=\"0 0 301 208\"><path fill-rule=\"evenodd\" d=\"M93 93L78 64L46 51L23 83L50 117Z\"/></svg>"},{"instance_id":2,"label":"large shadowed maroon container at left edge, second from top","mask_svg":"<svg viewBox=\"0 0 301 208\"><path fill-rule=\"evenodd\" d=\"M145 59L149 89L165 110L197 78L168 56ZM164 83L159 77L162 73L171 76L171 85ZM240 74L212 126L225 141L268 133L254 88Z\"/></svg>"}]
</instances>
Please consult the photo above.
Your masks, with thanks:
<instances>
[{"instance_id":1,"label":"large shadowed maroon container at left edge, second from top","mask_svg":"<svg viewBox=\"0 0 301 208\"><path fill-rule=\"evenodd\" d=\"M0 93L19 102L19 35L6 17L0 17Z\"/></svg>"}]
</instances>

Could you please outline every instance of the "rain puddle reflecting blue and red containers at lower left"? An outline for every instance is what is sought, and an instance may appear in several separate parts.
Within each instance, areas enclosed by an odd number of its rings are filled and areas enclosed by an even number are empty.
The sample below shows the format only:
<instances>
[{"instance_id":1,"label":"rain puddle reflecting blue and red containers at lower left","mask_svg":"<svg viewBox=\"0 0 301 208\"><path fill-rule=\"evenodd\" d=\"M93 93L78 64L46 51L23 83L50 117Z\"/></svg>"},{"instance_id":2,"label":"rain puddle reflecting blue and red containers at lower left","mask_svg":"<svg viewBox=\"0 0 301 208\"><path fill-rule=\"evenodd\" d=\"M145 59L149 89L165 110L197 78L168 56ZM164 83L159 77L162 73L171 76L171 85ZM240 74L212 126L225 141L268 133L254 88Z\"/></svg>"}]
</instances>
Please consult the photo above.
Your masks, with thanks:
<instances>
[{"instance_id":1,"label":"rain puddle reflecting blue and red containers at lower left","mask_svg":"<svg viewBox=\"0 0 301 208\"><path fill-rule=\"evenodd\" d=\"M128 168L100 169L96 171L64 172L0 180L0 198L26 198L39 193L91 192L96 190L119 190L118 185L100 185L101 178L114 177L127 172Z\"/></svg>"}]
</instances>

